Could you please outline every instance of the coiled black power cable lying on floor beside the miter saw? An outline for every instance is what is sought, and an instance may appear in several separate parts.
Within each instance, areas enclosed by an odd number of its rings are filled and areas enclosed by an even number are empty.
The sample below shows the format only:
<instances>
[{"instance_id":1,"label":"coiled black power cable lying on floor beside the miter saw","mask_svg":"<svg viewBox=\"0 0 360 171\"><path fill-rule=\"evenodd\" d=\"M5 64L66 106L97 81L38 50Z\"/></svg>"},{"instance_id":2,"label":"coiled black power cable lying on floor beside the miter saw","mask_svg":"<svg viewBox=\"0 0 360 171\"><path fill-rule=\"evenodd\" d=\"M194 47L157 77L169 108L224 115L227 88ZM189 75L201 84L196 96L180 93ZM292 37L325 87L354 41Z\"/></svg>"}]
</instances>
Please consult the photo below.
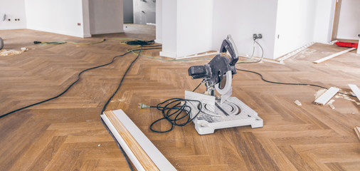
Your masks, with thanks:
<instances>
[{"instance_id":1,"label":"coiled black power cable lying on floor beside the miter saw","mask_svg":"<svg viewBox=\"0 0 360 171\"><path fill-rule=\"evenodd\" d=\"M203 81L201 81L201 83L203 83ZM201 83L196 86L193 92L201 85ZM188 105L189 102L198 103L198 112L196 113L196 115L194 115L193 118L191 118L191 107L190 105ZM157 108L157 110L162 111L163 115L162 118L155 120L150 125L150 130L152 130L154 133L168 133L174 128L174 125L185 126L186 124L191 123L191 121L198 116L198 114L201 112L202 107L203 106L199 100L189 100L185 98L170 98L162 103L157 104L156 106L149 106L148 108ZM154 128L152 127L160 120L167 120L170 123L171 128L164 131L154 130ZM183 120L182 123L179 123L181 122L181 120Z\"/></svg>"}]
</instances>

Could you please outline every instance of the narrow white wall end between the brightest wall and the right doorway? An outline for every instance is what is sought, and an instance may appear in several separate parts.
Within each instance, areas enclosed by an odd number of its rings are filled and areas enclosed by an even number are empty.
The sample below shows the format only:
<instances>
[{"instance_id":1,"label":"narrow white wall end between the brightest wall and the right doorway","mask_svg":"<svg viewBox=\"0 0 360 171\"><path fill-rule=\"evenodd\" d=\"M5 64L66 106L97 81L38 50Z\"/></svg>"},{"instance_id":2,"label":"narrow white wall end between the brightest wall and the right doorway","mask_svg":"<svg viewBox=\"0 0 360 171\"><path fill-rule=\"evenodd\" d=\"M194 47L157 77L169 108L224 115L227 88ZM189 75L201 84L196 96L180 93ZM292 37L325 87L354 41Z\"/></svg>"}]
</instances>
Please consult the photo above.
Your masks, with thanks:
<instances>
[{"instance_id":1,"label":"narrow white wall end between the brightest wall and the right doorway","mask_svg":"<svg viewBox=\"0 0 360 171\"><path fill-rule=\"evenodd\" d=\"M337 0L317 0L314 25L315 42L329 43L332 41L336 1Z\"/></svg>"}]
</instances>

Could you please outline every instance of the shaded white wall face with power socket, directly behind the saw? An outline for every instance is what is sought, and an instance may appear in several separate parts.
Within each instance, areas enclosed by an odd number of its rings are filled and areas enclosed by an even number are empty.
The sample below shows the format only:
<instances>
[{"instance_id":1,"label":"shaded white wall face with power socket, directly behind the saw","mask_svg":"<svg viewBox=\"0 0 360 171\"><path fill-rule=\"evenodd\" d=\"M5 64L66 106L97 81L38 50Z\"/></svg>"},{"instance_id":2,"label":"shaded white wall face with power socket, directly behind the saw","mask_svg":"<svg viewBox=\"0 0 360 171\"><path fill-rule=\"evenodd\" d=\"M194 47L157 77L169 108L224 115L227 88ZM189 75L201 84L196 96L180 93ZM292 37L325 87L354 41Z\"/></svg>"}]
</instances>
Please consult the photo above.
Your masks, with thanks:
<instances>
[{"instance_id":1,"label":"shaded white wall face with power socket, directly behind the saw","mask_svg":"<svg viewBox=\"0 0 360 171\"><path fill-rule=\"evenodd\" d=\"M262 33L258 42L264 58L273 58L277 0L214 0L212 49L219 51L223 39L231 34L240 55L251 56L253 33ZM258 46L254 56L261 56Z\"/></svg>"}]
</instances>

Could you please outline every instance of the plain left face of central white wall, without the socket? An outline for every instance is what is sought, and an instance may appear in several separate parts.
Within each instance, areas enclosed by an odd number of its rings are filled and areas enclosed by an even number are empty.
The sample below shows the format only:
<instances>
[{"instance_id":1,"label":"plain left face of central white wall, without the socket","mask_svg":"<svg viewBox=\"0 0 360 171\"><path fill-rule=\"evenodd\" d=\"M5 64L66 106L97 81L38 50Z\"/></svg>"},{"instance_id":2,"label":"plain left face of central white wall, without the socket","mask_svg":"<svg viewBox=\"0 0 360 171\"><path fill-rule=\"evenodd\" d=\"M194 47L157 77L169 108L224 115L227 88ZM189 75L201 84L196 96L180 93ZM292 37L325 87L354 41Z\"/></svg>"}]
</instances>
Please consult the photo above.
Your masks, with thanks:
<instances>
[{"instance_id":1,"label":"plain left face of central white wall, without the socket","mask_svg":"<svg viewBox=\"0 0 360 171\"><path fill-rule=\"evenodd\" d=\"M189 56L212 50L212 1L177 1L176 19L176 56Z\"/></svg>"}]
</instances>

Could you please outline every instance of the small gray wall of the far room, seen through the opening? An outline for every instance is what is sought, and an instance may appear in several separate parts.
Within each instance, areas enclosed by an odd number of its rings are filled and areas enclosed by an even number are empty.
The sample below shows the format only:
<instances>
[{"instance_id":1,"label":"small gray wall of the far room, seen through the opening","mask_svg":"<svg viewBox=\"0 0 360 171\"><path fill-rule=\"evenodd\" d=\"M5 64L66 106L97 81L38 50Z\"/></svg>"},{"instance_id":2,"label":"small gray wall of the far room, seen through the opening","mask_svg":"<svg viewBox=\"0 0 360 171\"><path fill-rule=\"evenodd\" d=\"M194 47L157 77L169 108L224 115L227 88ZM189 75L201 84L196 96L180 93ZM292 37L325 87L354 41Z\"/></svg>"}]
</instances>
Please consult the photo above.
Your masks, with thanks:
<instances>
[{"instance_id":1,"label":"small gray wall of the far room, seen through the opening","mask_svg":"<svg viewBox=\"0 0 360 171\"><path fill-rule=\"evenodd\" d=\"M155 24L156 0L133 0L134 24Z\"/></svg>"}]
</instances>

